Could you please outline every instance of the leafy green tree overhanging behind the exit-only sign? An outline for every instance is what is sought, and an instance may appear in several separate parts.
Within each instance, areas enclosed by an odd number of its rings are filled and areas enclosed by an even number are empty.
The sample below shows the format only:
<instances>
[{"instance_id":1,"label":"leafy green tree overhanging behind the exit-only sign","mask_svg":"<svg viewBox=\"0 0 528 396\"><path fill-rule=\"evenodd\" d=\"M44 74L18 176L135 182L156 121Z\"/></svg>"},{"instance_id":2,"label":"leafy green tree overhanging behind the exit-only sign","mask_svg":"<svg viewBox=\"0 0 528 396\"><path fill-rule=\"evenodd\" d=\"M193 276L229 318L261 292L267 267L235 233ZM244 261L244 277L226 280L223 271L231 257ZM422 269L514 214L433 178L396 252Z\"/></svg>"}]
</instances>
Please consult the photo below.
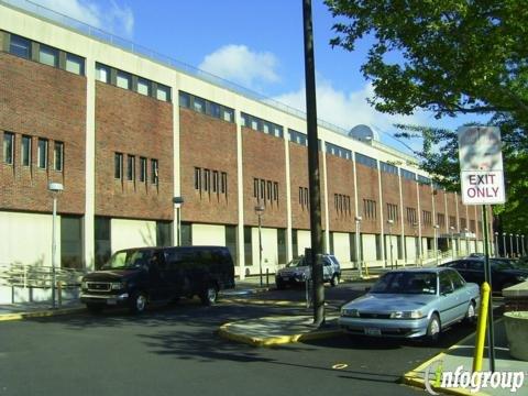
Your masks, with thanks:
<instances>
[{"instance_id":1,"label":"leafy green tree overhanging behind the exit-only sign","mask_svg":"<svg viewBox=\"0 0 528 396\"><path fill-rule=\"evenodd\" d=\"M417 109L444 116L484 114L503 135L507 206L501 231L528 234L528 9L518 0L326 0L336 37L353 51L372 41L361 70L382 112ZM419 165L448 189L460 190L457 133L398 125L420 135Z\"/></svg>"}]
</instances>

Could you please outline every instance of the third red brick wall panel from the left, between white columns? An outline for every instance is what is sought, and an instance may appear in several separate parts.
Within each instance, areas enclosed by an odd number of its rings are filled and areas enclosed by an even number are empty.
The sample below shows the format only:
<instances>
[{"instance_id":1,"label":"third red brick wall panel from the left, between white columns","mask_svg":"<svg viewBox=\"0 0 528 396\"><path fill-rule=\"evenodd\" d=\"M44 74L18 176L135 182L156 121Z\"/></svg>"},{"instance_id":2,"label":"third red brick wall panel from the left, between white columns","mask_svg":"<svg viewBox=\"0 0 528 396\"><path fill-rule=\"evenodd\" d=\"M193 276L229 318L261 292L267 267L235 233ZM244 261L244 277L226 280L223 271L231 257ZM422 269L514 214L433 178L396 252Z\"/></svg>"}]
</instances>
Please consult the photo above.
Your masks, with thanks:
<instances>
[{"instance_id":1,"label":"third red brick wall panel from the left, between white columns","mask_svg":"<svg viewBox=\"0 0 528 396\"><path fill-rule=\"evenodd\" d=\"M238 223L237 125L179 109L182 218L206 223ZM228 194L195 189L195 167L226 172ZM204 177L204 176L202 176Z\"/></svg>"}]
</instances>

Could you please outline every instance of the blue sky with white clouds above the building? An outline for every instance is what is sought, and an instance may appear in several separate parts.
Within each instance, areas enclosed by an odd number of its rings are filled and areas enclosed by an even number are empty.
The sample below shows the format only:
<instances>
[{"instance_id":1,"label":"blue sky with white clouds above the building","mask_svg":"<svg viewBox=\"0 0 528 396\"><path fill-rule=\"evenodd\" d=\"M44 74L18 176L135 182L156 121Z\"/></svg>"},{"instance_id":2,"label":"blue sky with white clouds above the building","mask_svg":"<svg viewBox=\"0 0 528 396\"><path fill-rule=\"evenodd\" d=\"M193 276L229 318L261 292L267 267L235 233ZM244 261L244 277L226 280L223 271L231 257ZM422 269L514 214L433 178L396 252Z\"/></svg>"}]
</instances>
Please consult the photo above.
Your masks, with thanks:
<instances>
[{"instance_id":1,"label":"blue sky with white clouds above the building","mask_svg":"<svg viewBox=\"0 0 528 396\"><path fill-rule=\"evenodd\" d=\"M68 16L199 67L266 97L305 109L301 0L33 0ZM395 122L455 129L470 118L436 120L376 112L360 72L369 43L354 53L329 45L334 23L312 0L318 117L341 128L366 123L385 143ZM415 142L414 145L417 143Z\"/></svg>"}]
</instances>

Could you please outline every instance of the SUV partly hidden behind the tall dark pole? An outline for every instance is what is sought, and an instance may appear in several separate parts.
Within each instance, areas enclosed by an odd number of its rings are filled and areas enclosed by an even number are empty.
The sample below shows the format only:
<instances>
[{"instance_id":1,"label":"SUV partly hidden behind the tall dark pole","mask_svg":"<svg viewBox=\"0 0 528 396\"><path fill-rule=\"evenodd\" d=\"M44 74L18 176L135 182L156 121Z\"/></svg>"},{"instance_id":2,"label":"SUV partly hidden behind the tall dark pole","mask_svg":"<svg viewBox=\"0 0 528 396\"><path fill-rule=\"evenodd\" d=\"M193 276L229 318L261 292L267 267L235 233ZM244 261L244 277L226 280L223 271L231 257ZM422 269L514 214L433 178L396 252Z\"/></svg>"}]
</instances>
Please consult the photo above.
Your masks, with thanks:
<instances>
[{"instance_id":1,"label":"SUV partly hidden behind the tall dark pole","mask_svg":"<svg viewBox=\"0 0 528 396\"><path fill-rule=\"evenodd\" d=\"M301 255L277 271L275 284L278 289L283 289L287 285L304 284L309 278L311 278L311 260ZM332 286L337 286L341 279L341 265L333 254L322 255L322 279Z\"/></svg>"}]
</instances>

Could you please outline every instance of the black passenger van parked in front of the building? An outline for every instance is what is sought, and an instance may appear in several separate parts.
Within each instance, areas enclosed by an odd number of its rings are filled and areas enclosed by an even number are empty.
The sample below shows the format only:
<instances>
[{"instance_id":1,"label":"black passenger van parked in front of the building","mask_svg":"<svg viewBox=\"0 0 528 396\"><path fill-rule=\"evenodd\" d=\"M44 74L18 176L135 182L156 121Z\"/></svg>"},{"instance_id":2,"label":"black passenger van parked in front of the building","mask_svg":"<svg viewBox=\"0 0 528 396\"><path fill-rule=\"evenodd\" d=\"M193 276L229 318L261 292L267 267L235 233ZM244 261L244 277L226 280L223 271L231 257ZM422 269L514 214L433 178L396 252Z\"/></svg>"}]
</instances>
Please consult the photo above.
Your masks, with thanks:
<instances>
[{"instance_id":1,"label":"black passenger van parked in front of the building","mask_svg":"<svg viewBox=\"0 0 528 396\"><path fill-rule=\"evenodd\" d=\"M80 301L92 311L127 306L141 312L152 302L195 295L212 305L219 290L232 287L234 266L227 248L125 249L82 277Z\"/></svg>"}]
</instances>

